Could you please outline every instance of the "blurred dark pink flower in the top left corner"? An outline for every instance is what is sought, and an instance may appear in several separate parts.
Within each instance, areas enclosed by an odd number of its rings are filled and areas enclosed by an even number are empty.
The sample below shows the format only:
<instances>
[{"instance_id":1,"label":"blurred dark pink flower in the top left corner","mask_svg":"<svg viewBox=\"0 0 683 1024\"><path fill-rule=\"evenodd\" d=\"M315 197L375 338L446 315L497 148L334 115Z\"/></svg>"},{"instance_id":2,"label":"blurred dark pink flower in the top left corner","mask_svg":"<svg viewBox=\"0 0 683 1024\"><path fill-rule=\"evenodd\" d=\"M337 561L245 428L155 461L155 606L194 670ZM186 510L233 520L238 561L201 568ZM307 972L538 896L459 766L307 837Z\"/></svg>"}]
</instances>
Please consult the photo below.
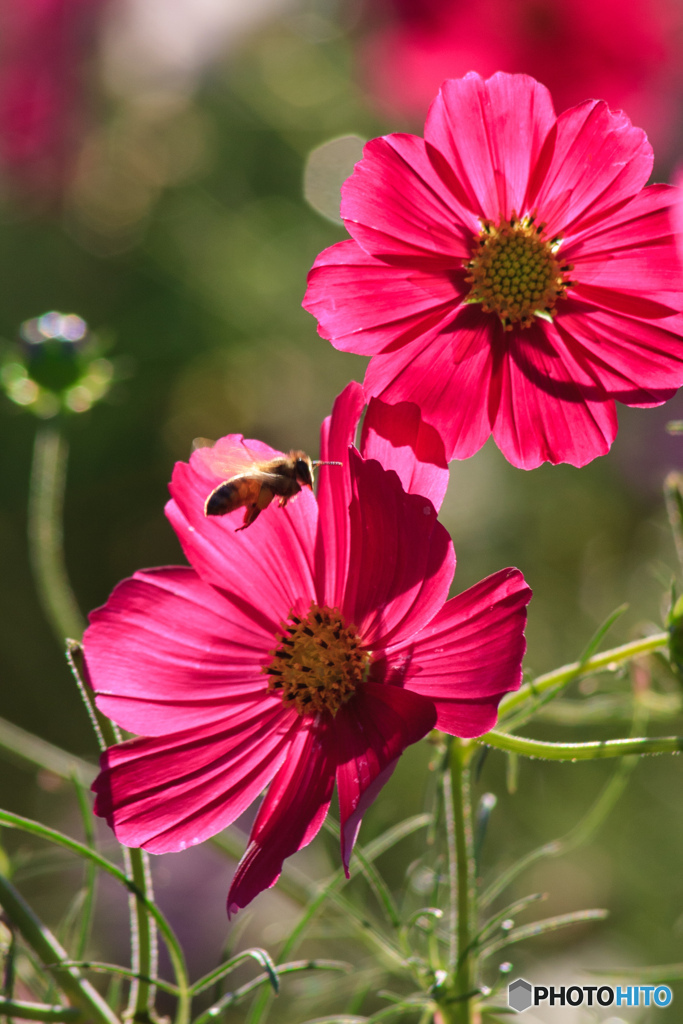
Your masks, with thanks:
<instances>
[{"instance_id":1,"label":"blurred dark pink flower in the top left corner","mask_svg":"<svg viewBox=\"0 0 683 1024\"><path fill-rule=\"evenodd\" d=\"M0 164L27 193L53 196L82 130L83 74L106 0L5 0L0 11Z\"/></svg>"}]
</instances>

